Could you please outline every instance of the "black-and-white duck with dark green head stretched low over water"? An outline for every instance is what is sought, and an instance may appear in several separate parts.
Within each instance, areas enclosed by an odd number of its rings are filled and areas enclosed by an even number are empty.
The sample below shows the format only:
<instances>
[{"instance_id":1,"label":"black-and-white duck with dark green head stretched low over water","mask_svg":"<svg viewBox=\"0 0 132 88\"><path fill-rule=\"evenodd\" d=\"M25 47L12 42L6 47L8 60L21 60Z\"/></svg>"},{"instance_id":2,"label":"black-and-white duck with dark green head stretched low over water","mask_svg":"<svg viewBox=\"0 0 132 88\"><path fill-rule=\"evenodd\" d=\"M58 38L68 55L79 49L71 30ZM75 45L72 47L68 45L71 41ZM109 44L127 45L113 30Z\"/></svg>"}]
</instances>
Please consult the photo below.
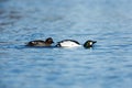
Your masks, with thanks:
<instances>
[{"instance_id":1,"label":"black-and-white duck with dark green head stretched low over water","mask_svg":"<svg viewBox=\"0 0 132 88\"><path fill-rule=\"evenodd\" d=\"M84 46L85 48L90 48L94 46L94 44L97 43L97 41L88 40L81 45L79 42L74 40L63 40L61 42L57 42L57 47L77 47L77 46Z\"/></svg>"}]
</instances>

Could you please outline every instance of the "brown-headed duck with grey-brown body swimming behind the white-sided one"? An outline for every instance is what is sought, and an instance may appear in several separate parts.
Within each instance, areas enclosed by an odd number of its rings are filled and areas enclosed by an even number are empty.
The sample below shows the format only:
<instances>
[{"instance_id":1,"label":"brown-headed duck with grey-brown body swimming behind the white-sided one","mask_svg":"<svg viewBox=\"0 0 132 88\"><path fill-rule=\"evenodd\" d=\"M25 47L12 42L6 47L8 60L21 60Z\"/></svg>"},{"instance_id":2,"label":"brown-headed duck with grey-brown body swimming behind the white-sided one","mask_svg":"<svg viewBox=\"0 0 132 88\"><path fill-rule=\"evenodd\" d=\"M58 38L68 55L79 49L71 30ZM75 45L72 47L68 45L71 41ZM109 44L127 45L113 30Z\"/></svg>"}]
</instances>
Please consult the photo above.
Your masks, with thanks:
<instances>
[{"instance_id":1,"label":"brown-headed duck with grey-brown body swimming behind the white-sided one","mask_svg":"<svg viewBox=\"0 0 132 88\"><path fill-rule=\"evenodd\" d=\"M52 37L47 37L45 41L43 40L35 40L31 41L26 44L26 46L51 46L54 43Z\"/></svg>"}]
</instances>

